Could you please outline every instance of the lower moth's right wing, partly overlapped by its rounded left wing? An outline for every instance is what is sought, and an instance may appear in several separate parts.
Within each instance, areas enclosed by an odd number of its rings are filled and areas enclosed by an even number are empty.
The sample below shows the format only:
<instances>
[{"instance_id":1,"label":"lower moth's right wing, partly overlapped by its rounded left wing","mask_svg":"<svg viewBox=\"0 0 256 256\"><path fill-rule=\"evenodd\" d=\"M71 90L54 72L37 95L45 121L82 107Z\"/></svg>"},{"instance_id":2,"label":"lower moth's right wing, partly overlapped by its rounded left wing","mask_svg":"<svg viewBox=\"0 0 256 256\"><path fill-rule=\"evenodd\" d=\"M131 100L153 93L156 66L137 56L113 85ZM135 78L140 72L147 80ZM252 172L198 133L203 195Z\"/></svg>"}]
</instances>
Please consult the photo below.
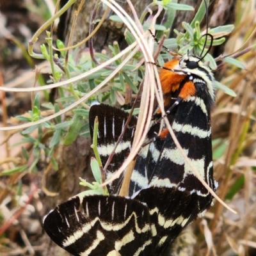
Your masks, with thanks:
<instances>
[{"instance_id":1,"label":"lower moth's right wing, partly overlapped by its rounded left wing","mask_svg":"<svg viewBox=\"0 0 256 256\"><path fill-rule=\"evenodd\" d=\"M148 206L152 229L150 256L170 255L170 245L197 218L198 195L177 188L141 189L136 200Z\"/></svg>"}]
</instances>

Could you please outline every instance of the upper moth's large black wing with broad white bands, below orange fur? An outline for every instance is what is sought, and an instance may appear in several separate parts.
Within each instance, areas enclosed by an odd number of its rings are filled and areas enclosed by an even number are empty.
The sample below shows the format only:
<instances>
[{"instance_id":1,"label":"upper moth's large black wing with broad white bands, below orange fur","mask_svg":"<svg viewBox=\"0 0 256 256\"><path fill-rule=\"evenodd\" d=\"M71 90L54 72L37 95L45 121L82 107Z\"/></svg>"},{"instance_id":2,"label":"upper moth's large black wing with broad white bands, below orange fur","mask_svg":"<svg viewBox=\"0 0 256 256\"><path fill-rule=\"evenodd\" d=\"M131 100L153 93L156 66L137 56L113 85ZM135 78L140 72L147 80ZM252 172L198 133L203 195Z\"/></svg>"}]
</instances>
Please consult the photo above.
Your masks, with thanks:
<instances>
[{"instance_id":1,"label":"upper moth's large black wing with broad white bands, below orange fur","mask_svg":"<svg viewBox=\"0 0 256 256\"><path fill-rule=\"evenodd\" d=\"M184 100L174 110L174 115L168 115L168 119L177 140L201 177L215 190L210 109L198 96ZM152 138L155 132L159 132L159 124L151 127L148 138ZM196 193L198 214L207 209L212 202L211 194L196 178L170 133L163 140L156 140L147 145L137 157L131 177L130 195L145 188L145 184Z\"/></svg>"}]
</instances>

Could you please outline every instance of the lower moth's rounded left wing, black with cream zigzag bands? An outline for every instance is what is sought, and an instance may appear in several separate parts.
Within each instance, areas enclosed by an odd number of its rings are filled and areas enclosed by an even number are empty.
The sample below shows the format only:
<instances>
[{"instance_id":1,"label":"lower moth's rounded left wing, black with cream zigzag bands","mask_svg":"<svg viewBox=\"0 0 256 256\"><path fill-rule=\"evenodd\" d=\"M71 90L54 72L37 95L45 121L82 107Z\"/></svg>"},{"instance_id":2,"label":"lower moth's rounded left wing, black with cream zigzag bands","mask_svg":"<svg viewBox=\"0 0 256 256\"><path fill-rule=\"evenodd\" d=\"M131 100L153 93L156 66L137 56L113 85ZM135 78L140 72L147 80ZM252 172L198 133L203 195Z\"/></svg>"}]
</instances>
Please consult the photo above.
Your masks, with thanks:
<instances>
[{"instance_id":1,"label":"lower moth's rounded left wing, black with cream zigzag bands","mask_svg":"<svg viewBox=\"0 0 256 256\"><path fill-rule=\"evenodd\" d=\"M71 198L45 216L44 229L75 256L148 256L152 252L147 205L121 196Z\"/></svg>"}]
</instances>

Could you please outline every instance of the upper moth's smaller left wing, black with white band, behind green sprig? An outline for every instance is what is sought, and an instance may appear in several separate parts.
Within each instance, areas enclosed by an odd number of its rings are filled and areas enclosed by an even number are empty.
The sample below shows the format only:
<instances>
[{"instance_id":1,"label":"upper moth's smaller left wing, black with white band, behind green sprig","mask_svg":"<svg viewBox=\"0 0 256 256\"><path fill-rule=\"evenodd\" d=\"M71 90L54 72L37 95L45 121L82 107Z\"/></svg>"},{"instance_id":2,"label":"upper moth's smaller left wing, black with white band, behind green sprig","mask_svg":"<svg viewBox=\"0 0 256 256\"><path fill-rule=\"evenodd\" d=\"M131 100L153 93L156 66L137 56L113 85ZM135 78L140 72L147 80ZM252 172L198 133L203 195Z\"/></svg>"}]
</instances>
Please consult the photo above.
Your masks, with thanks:
<instances>
[{"instance_id":1,"label":"upper moth's smaller left wing, black with white band, behind green sprig","mask_svg":"<svg viewBox=\"0 0 256 256\"><path fill-rule=\"evenodd\" d=\"M116 141L118 141L120 134L124 131L124 125L129 114L121 109L105 104L91 106L89 112L91 137L93 135L93 124L96 116L98 116L99 119L98 150L104 166L116 145ZM124 163L125 158L129 155L136 124L136 116L131 116L131 120L124 132L124 136L118 144L115 150L115 155L108 166L106 179L111 177L113 173L118 170L122 163ZM114 180L112 184L109 184L108 189L110 193L118 193L120 185L122 184L122 178L123 176L120 177L120 179Z\"/></svg>"}]
</instances>

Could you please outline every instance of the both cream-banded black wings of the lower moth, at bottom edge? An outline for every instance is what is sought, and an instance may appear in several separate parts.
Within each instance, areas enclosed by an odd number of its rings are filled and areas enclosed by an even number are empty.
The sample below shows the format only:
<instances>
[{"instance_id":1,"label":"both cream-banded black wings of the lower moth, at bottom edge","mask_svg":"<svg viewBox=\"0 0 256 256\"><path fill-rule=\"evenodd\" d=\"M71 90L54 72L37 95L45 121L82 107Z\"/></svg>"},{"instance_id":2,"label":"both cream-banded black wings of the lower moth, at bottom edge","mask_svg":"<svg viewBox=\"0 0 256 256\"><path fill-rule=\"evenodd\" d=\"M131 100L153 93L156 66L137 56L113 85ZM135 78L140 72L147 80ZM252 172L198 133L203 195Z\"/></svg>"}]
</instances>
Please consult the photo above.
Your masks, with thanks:
<instances>
[{"instance_id":1,"label":"both cream-banded black wings of the lower moth, at bottom edge","mask_svg":"<svg viewBox=\"0 0 256 256\"><path fill-rule=\"evenodd\" d=\"M198 195L150 187L133 197L75 196L45 216L45 232L75 256L169 255L168 244L196 218Z\"/></svg>"}]
</instances>

